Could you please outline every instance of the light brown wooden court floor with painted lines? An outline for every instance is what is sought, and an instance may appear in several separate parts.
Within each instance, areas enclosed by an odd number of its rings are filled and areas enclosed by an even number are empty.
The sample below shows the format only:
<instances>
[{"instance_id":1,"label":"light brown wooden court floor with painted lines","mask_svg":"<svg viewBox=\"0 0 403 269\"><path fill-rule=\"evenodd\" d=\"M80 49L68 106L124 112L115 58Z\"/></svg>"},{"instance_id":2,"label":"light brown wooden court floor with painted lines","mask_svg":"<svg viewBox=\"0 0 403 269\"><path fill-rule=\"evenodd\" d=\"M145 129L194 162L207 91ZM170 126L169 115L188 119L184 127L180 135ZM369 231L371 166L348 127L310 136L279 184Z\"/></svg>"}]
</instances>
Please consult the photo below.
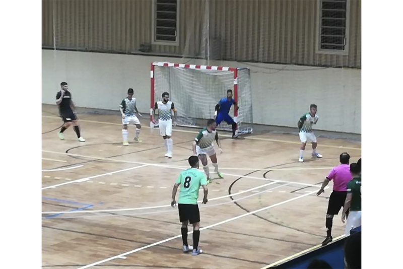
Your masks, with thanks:
<instances>
[{"instance_id":1,"label":"light brown wooden court floor with painted lines","mask_svg":"<svg viewBox=\"0 0 403 269\"><path fill-rule=\"evenodd\" d=\"M169 204L197 130L175 127L173 158L166 159L147 116L143 142L128 147L121 146L119 116L78 116L87 141L76 141L73 128L60 141L56 107L42 107L44 268L261 268L323 240L331 189L317 197L318 186L340 153L361 157L360 144L319 138L324 158L310 159L307 150L298 163L296 136L223 136L225 178L208 185L209 203L199 206L204 253L191 256L181 252L178 213ZM130 126L131 139L134 131ZM343 231L335 217L333 237Z\"/></svg>"}]
</instances>

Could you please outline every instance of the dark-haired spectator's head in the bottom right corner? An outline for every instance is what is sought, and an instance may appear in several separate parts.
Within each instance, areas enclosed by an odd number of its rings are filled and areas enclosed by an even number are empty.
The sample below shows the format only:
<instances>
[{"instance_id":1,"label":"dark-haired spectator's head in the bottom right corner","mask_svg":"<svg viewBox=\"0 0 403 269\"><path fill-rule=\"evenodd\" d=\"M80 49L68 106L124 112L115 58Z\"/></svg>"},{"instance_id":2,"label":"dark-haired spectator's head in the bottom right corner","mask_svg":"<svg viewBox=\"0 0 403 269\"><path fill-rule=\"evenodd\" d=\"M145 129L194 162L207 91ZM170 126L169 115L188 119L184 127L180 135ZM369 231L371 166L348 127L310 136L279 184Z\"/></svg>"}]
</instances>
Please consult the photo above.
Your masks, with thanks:
<instances>
[{"instance_id":1,"label":"dark-haired spectator's head in the bottom right corner","mask_svg":"<svg viewBox=\"0 0 403 269\"><path fill-rule=\"evenodd\" d=\"M361 232L347 237L344 258L349 269L361 269Z\"/></svg>"}]
</instances>

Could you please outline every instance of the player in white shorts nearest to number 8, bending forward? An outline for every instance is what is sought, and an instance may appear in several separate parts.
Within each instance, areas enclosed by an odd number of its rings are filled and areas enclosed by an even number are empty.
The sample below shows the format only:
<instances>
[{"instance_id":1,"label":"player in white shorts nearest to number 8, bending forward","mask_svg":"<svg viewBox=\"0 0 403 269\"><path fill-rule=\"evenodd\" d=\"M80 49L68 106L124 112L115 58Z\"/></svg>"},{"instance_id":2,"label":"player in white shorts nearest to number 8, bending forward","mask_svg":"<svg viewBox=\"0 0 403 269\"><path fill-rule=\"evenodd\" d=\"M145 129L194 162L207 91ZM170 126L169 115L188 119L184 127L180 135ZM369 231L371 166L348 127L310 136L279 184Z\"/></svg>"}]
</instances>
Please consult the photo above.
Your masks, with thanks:
<instances>
[{"instance_id":1,"label":"player in white shorts nearest to number 8, bending forward","mask_svg":"<svg viewBox=\"0 0 403 269\"><path fill-rule=\"evenodd\" d=\"M197 134L197 137L194 139L193 142L193 154L197 154L198 158L201 161L201 164L203 164L203 169L205 170L208 183L210 183L211 178L210 178L210 168L209 166L207 166L208 165L207 156L210 157L210 160L213 163L214 172L216 172L220 178L223 178L222 174L218 171L217 155L213 145L213 142L216 141L220 149L220 152L221 153L223 152L223 150L221 149L221 143L216 128L217 128L216 120L209 119L207 121L207 127L200 130L200 132Z\"/></svg>"}]
</instances>

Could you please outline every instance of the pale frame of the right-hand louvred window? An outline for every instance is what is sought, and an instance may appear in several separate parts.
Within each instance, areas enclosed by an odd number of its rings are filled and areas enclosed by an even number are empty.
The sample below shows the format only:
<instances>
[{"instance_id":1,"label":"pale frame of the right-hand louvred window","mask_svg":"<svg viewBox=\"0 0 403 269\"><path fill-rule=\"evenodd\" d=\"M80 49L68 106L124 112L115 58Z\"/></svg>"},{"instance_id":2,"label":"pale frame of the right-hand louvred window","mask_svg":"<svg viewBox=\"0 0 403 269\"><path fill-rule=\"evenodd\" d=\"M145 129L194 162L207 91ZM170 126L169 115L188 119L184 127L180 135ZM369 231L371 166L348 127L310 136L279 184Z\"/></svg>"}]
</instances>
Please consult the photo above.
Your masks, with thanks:
<instances>
[{"instance_id":1,"label":"pale frame of the right-hand louvred window","mask_svg":"<svg viewBox=\"0 0 403 269\"><path fill-rule=\"evenodd\" d=\"M316 54L332 54L332 55L349 55L349 43L350 43L350 8L351 0L346 0L346 45L344 50L337 49L321 49L320 48L320 33L321 33L321 17L322 17L322 0L317 1L316 8L316 41L315 41L315 53Z\"/></svg>"}]
</instances>

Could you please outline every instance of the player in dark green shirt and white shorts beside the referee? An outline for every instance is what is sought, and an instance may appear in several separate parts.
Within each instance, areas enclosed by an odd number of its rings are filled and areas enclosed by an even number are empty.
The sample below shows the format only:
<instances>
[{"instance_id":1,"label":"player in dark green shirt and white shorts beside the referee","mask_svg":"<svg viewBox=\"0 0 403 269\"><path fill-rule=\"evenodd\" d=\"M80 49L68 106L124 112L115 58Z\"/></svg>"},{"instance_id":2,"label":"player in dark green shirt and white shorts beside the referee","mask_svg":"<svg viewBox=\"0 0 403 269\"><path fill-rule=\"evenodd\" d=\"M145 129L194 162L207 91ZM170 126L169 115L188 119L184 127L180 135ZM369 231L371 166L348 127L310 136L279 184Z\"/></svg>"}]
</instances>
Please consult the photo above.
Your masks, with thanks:
<instances>
[{"instance_id":1,"label":"player in dark green shirt and white shorts beside the referee","mask_svg":"<svg viewBox=\"0 0 403 269\"><path fill-rule=\"evenodd\" d=\"M354 228L361 226L361 170L357 163L352 163L350 165L350 172L353 179L347 184L347 197L344 204L344 209L342 213L342 222L346 223L345 235L349 236L350 231ZM350 213L347 214L347 210Z\"/></svg>"}]
</instances>

